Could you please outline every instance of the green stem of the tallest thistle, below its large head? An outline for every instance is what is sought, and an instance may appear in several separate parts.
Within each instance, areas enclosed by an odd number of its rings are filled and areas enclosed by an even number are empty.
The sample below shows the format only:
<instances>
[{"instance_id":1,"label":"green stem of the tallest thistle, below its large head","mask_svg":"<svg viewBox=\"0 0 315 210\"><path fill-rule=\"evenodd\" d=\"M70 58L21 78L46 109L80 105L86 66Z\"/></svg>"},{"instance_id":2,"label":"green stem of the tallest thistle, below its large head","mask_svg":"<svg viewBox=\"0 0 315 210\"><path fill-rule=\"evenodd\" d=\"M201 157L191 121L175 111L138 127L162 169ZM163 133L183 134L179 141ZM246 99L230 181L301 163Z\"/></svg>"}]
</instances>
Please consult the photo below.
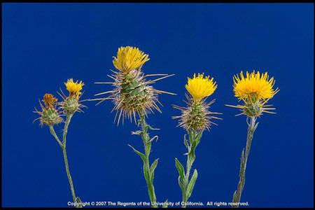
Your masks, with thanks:
<instances>
[{"instance_id":1,"label":"green stem of the tallest thistle, below its large head","mask_svg":"<svg viewBox=\"0 0 315 210\"><path fill-rule=\"evenodd\" d=\"M142 141L144 142L144 151L145 151L145 156L146 156L146 159L144 160L144 177L146 179L146 184L148 187L148 195L150 197L151 204L153 203L152 207L157 208L158 206L154 204L156 202L156 197L155 197L155 190L153 186L153 176L151 174L150 162L149 162L149 155L151 152L151 141L150 141L150 137L148 136L148 125L146 124L144 114L140 114L140 125L142 128L141 138L142 138Z\"/></svg>"}]
</instances>

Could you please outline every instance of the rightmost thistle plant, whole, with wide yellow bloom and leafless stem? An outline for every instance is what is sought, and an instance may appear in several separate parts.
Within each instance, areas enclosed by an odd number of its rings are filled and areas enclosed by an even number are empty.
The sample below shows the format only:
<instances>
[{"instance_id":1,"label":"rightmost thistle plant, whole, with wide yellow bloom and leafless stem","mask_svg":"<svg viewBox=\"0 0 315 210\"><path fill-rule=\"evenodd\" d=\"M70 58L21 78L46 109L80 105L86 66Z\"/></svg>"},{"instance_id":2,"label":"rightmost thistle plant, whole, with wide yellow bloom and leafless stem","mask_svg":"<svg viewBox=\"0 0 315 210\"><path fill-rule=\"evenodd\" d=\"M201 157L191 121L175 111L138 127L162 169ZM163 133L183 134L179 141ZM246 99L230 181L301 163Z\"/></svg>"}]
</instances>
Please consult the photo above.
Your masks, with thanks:
<instances>
[{"instance_id":1,"label":"rightmost thistle plant, whole, with wide yellow bloom and leafless stem","mask_svg":"<svg viewBox=\"0 0 315 210\"><path fill-rule=\"evenodd\" d=\"M240 75L233 77L234 80L234 92L235 97L242 102L241 105L231 106L240 109L241 113L237 116L246 116L246 123L248 125L247 130L247 140L246 148L241 151L241 167L239 169L239 183L237 185L237 190L233 194L233 207L239 207L239 201L241 200L241 193L244 189L245 184L245 171L248 160L248 154L251 149L251 141L253 140L253 134L258 127L256 123L257 118L262 115L262 113L274 113L271 110L274 108L270 107L272 105L267 105L269 99L274 97L274 94L279 92L279 89L273 89L275 80L274 78L269 78L268 73L262 73L258 71L255 73L246 72L246 77L243 72Z\"/></svg>"}]
</instances>

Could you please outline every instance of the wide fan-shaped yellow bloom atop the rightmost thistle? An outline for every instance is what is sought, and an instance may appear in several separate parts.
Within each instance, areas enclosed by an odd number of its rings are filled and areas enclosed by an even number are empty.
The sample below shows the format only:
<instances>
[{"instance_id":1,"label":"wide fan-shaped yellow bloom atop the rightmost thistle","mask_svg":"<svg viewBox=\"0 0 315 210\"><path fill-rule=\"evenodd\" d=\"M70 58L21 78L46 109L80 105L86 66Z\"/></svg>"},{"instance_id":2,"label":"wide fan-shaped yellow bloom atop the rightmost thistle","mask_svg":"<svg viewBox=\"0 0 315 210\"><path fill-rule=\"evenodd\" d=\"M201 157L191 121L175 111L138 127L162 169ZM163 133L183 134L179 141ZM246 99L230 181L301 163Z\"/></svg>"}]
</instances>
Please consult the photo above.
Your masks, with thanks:
<instances>
[{"instance_id":1,"label":"wide fan-shaped yellow bloom atop the rightmost thistle","mask_svg":"<svg viewBox=\"0 0 315 210\"><path fill-rule=\"evenodd\" d=\"M277 90L274 90L274 78L270 78L268 73L260 74L259 71L255 73L248 73L246 71L246 77L244 77L241 71L240 76L236 75L233 77L234 80L234 92L235 97L242 100L251 100L253 102L260 99L271 99Z\"/></svg>"}]
</instances>

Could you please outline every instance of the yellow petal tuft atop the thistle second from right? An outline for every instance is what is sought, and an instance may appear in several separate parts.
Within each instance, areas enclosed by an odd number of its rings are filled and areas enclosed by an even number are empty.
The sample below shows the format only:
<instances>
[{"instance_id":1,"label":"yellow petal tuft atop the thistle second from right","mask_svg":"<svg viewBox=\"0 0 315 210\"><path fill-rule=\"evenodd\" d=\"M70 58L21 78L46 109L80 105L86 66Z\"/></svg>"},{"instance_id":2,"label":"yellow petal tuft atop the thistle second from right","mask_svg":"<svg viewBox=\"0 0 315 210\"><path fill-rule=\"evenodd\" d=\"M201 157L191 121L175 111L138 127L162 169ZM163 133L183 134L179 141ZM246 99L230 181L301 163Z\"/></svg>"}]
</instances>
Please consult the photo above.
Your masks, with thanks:
<instances>
[{"instance_id":1,"label":"yellow petal tuft atop the thistle second from right","mask_svg":"<svg viewBox=\"0 0 315 210\"><path fill-rule=\"evenodd\" d=\"M209 79L209 76L204 78L204 74L194 73L193 78L188 78L188 83L185 85L186 90L190 93L190 95L195 99L195 101L199 102L204 97L208 97L209 95L214 93L216 90L216 82L214 82L214 78Z\"/></svg>"}]
</instances>

